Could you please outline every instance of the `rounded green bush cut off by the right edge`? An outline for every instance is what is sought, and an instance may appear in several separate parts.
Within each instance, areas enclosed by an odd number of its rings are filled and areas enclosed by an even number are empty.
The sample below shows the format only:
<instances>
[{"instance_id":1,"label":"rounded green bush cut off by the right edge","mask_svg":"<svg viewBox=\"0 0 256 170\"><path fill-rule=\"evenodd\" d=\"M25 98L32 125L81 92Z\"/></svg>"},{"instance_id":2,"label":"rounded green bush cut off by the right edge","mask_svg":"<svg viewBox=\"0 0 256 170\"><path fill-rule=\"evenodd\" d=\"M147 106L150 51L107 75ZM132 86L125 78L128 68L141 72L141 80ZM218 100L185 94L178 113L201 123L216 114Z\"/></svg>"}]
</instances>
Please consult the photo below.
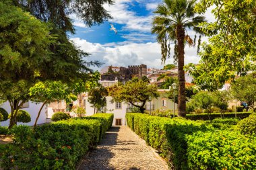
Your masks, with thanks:
<instances>
[{"instance_id":1,"label":"rounded green bush cut off by the right edge","mask_svg":"<svg viewBox=\"0 0 256 170\"><path fill-rule=\"evenodd\" d=\"M237 124L237 127L244 134L256 134L256 114L252 114L249 118L241 120Z\"/></svg>"}]
</instances>

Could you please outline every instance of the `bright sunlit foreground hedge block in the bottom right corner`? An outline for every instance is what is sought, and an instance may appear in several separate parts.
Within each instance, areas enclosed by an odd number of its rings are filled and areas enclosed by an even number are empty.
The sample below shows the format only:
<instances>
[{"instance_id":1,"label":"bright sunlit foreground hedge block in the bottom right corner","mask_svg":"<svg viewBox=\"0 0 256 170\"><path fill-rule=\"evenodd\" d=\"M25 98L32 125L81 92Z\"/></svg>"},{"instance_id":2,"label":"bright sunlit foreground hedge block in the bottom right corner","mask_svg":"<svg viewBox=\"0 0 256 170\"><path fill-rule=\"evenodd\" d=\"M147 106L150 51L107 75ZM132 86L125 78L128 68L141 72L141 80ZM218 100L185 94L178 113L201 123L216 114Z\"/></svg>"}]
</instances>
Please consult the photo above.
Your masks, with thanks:
<instances>
[{"instance_id":1,"label":"bright sunlit foreground hedge block in the bottom right corner","mask_svg":"<svg viewBox=\"0 0 256 170\"><path fill-rule=\"evenodd\" d=\"M189 169L255 169L256 138L215 130L187 136Z\"/></svg>"}]
</instances>

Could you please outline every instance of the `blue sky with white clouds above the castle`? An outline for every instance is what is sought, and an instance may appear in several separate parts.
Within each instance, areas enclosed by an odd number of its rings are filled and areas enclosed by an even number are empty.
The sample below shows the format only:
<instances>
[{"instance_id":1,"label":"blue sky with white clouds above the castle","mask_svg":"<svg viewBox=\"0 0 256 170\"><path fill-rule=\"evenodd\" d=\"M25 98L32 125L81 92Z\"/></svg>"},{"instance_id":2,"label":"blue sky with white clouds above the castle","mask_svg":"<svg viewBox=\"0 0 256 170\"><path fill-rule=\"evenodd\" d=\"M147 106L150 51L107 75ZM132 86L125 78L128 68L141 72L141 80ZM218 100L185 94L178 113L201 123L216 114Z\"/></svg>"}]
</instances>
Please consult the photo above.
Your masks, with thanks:
<instances>
[{"instance_id":1,"label":"blue sky with white clouds above the castle","mask_svg":"<svg viewBox=\"0 0 256 170\"><path fill-rule=\"evenodd\" d=\"M153 11L160 2L159 0L115 0L114 5L104 6L113 19L92 28L86 27L75 15L71 15L76 34L71 35L70 39L79 48L91 54L86 60L100 60L104 62L102 67L146 64L148 68L160 69L163 67L160 45L156 42L156 36L150 32ZM117 28L117 34L109 30L110 23ZM191 33L190 36L194 35ZM186 46L185 63L198 61L196 49ZM173 63L172 58L166 60L166 64L170 63Z\"/></svg>"}]
</instances>

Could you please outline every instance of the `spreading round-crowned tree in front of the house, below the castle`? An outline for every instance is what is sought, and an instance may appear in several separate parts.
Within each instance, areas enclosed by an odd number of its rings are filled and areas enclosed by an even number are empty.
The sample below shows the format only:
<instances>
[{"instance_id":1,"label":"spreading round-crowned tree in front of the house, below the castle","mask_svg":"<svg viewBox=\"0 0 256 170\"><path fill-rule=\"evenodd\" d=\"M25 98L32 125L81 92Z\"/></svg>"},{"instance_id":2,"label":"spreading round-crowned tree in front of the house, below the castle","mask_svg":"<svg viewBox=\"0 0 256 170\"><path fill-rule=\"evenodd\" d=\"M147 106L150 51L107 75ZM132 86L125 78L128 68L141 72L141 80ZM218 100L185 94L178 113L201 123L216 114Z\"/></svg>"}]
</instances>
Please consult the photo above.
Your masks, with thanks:
<instances>
[{"instance_id":1,"label":"spreading round-crowned tree in front of the house, below the castle","mask_svg":"<svg viewBox=\"0 0 256 170\"><path fill-rule=\"evenodd\" d=\"M148 85L148 82L142 79L132 79L127 81L125 85L114 85L108 88L108 93L113 97L114 101L130 103L139 108L143 113L146 101L149 97L156 98L159 96L155 85Z\"/></svg>"}]
</instances>

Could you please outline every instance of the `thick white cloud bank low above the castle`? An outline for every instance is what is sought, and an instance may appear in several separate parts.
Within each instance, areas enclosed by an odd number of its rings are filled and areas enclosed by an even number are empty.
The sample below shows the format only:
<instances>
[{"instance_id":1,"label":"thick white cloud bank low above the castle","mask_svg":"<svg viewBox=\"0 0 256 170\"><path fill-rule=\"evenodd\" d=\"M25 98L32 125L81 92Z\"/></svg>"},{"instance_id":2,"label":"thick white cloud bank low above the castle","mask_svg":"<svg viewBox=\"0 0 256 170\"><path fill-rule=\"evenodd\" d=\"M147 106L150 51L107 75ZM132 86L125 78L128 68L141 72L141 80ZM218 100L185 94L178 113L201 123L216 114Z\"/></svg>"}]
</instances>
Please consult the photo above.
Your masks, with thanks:
<instances>
[{"instance_id":1,"label":"thick white cloud bank low above the castle","mask_svg":"<svg viewBox=\"0 0 256 170\"><path fill-rule=\"evenodd\" d=\"M91 54L90 60L100 60L104 62L104 66L113 65L113 66L123 66L127 67L128 65L148 65L148 68L162 68L161 63L161 51L160 45L157 42L148 42L148 43L134 43L134 42L125 42L125 44L98 44L90 43L86 40L80 38L72 38L73 42L80 49ZM171 45L173 48L174 44ZM173 56L171 52L170 56ZM198 63L199 56L196 54L196 48L189 48L185 46L185 64L189 62ZM168 58L166 64L172 63L173 58Z\"/></svg>"}]
</instances>

